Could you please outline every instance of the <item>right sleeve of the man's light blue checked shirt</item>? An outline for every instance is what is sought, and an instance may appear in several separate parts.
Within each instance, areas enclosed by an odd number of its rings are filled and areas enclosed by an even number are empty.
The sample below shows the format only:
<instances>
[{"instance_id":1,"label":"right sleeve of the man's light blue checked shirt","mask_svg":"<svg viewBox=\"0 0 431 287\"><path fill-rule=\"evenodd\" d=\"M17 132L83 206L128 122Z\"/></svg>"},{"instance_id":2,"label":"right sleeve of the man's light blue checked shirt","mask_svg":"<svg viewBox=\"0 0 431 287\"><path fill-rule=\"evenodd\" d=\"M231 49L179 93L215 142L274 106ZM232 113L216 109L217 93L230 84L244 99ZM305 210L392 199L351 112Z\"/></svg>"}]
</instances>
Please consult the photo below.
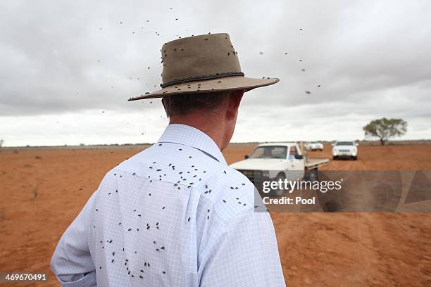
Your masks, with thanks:
<instances>
[{"instance_id":1,"label":"right sleeve of the man's light blue checked shirt","mask_svg":"<svg viewBox=\"0 0 431 287\"><path fill-rule=\"evenodd\" d=\"M200 286L286 286L268 212L246 210L209 252Z\"/></svg>"}]
</instances>

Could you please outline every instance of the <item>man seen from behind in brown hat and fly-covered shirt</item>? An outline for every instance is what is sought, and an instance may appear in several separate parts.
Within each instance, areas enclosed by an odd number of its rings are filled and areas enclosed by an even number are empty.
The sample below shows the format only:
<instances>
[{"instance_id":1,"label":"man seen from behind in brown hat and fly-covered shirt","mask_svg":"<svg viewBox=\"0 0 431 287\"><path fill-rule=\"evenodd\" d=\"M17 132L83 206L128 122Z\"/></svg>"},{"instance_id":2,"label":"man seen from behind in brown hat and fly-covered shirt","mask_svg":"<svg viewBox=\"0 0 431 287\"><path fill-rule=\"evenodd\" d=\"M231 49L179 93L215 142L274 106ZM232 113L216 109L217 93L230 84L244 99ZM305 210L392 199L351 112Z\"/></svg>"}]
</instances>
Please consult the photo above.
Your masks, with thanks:
<instances>
[{"instance_id":1,"label":"man seen from behind in brown hat and fly-covered shirt","mask_svg":"<svg viewBox=\"0 0 431 287\"><path fill-rule=\"evenodd\" d=\"M254 186L227 166L244 91L278 79L244 77L228 34L162 47L170 125L108 172L51 260L65 286L285 286L273 223Z\"/></svg>"}]
</instances>

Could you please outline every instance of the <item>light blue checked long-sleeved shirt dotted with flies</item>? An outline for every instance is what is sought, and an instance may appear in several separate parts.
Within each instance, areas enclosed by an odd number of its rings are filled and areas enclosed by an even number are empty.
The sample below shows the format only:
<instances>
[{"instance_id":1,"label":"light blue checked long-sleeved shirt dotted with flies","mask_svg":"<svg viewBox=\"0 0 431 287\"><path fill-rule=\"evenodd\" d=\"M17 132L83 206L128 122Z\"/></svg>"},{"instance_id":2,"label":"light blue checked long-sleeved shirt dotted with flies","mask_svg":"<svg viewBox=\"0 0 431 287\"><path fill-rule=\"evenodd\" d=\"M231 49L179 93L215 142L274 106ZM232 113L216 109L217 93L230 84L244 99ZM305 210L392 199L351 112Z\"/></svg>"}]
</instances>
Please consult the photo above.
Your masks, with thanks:
<instances>
[{"instance_id":1,"label":"light blue checked long-sleeved shirt dotted with flies","mask_svg":"<svg viewBox=\"0 0 431 287\"><path fill-rule=\"evenodd\" d=\"M108 172L51 260L63 286L285 286L273 222L213 140L168 125Z\"/></svg>"}]
</instances>

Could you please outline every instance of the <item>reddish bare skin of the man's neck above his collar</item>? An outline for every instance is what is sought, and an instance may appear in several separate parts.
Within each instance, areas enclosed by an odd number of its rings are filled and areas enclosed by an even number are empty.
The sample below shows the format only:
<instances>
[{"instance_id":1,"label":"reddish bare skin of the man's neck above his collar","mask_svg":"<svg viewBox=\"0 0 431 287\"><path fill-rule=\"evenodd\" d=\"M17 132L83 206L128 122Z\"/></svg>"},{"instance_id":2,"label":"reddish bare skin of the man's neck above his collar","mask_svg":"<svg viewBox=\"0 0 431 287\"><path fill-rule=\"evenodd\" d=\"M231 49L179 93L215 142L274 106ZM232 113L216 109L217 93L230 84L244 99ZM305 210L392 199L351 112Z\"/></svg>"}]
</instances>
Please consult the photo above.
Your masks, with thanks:
<instances>
[{"instance_id":1,"label":"reddish bare skin of the man's neck above his collar","mask_svg":"<svg viewBox=\"0 0 431 287\"><path fill-rule=\"evenodd\" d=\"M192 113L170 117L169 124L188 125L195 129L199 129L215 142L220 151L225 148L225 129L222 120L214 119L211 116L208 117L202 114Z\"/></svg>"}]
</instances>

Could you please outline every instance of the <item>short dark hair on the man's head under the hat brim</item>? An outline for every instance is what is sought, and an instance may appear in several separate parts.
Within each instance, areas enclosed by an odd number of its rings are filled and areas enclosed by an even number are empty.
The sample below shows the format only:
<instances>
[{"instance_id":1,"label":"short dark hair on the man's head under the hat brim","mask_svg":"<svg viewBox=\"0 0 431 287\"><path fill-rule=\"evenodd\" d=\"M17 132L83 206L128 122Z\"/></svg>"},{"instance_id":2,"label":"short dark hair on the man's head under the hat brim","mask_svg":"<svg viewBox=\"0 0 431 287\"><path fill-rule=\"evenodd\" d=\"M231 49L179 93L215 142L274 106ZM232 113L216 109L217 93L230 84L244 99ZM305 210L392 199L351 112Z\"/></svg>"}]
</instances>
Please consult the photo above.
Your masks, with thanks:
<instances>
[{"instance_id":1,"label":"short dark hair on the man's head under the hat brim","mask_svg":"<svg viewBox=\"0 0 431 287\"><path fill-rule=\"evenodd\" d=\"M163 96L163 106L167 117L173 115L185 115L196 110L217 110L226 96L232 91L219 91L200 94L176 94Z\"/></svg>"}]
</instances>

